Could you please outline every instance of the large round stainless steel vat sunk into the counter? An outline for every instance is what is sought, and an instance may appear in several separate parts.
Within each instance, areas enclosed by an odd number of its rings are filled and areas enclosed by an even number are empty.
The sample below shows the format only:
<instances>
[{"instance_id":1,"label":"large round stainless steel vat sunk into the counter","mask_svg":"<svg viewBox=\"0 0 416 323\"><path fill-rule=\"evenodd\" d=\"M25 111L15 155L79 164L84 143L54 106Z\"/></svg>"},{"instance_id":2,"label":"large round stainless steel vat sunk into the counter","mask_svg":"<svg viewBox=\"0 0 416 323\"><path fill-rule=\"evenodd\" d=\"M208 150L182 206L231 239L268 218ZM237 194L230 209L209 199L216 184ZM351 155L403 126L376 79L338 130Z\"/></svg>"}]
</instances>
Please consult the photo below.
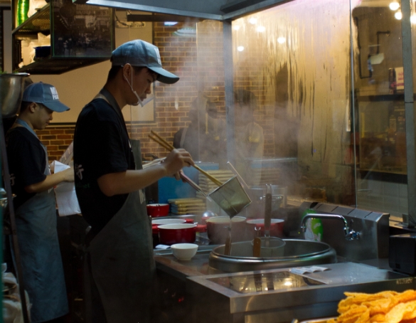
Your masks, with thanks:
<instances>
[{"instance_id":1,"label":"large round stainless steel vat sunk into the counter","mask_svg":"<svg viewBox=\"0 0 416 323\"><path fill-rule=\"evenodd\" d=\"M219 245L209 256L210 274L336 263L336 252L326 243L297 239L284 242L284 254L276 258L253 257L251 241L233 243L230 255L224 255L225 245Z\"/></svg>"}]
</instances>

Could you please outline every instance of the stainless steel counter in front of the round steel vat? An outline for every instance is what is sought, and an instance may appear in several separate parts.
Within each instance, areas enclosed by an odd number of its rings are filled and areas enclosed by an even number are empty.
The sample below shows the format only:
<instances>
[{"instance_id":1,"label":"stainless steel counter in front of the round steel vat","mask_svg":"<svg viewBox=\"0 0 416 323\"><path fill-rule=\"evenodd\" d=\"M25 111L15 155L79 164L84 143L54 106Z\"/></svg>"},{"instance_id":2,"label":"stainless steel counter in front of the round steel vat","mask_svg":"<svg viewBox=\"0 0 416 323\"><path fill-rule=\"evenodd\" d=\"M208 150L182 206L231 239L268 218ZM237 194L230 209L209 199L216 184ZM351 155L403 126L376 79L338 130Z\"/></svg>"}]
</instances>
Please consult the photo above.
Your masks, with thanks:
<instances>
[{"instance_id":1,"label":"stainless steel counter in front of the round steel vat","mask_svg":"<svg viewBox=\"0 0 416 323\"><path fill-rule=\"evenodd\" d=\"M280 323L332 317L343 292L415 288L414 277L385 269L386 259L321 265L328 270L303 275L290 272L292 268L209 275L213 247L200 246L190 261L176 260L170 250L155 250L158 270L185 289L186 310L192 313L186 322Z\"/></svg>"}]
</instances>

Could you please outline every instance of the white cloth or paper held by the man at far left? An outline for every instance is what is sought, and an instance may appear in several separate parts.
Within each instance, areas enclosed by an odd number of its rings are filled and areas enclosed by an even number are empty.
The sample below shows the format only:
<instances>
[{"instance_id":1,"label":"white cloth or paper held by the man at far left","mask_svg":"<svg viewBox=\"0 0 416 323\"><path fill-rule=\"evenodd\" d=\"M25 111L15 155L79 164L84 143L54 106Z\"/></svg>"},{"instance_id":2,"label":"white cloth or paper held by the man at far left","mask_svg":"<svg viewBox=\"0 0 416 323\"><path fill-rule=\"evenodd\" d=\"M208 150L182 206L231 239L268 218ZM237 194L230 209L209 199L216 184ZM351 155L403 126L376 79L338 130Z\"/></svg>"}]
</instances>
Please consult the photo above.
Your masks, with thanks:
<instances>
[{"instance_id":1,"label":"white cloth or paper held by the man at far left","mask_svg":"<svg viewBox=\"0 0 416 323\"><path fill-rule=\"evenodd\" d=\"M55 173L64 171L70 166L62 164L58 161L55 163ZM55 187L56 203L58 204L59 216L71 216L73 214L80 214L81 208L78 203L77 195L75 194L74 182L63 181Z\"/></svg>"}]
</instances>

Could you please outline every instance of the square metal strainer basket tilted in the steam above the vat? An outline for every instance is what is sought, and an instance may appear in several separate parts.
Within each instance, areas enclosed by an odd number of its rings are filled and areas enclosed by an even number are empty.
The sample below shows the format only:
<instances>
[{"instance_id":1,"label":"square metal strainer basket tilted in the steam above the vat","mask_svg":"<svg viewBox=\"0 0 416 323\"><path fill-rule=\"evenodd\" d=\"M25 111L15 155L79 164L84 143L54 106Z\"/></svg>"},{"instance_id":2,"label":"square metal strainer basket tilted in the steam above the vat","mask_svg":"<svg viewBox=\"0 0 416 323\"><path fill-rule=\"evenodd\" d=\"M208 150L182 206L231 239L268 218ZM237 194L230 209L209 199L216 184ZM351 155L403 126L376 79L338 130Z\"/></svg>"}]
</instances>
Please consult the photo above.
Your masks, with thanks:
<instances>
[{"instance_id":1,"label":"square metal strainer basket tilted in the steam above the vat","mask_svg":"<svg viewBox=\"0 0 416 323\"><path fill-rule=\"evenodd\" d=\"M242 188L237 176L233 176L223 185L212 191L208 196L222 208L225 213L233 218L242 211L243 208L250 205L251 200L245 190Z\"/></svg>"}]
</instances>

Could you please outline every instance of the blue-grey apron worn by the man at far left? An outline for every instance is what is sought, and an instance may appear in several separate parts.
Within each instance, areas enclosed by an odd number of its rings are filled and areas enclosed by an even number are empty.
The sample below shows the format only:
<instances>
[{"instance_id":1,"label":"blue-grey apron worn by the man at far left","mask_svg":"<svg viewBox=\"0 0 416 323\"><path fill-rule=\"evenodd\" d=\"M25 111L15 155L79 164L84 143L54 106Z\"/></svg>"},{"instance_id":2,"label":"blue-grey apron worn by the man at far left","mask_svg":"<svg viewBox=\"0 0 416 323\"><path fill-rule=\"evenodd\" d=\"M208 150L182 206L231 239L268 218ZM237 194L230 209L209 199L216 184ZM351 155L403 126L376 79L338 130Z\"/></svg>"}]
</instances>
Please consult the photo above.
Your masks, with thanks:
<instances>
[{"instance_id":1,"label":"blue-grey apron worn by the man at far left","mask_svg":"<svg viewBox=\"0 0 416 323\"><path fill-rule=\"evenodd\" d=\"M36 138L26 122L16 120ZM42 145L43 146L43 145ZM45 175L50 175L48 152ZM68 297L56 229L53 189L35 194L16 209L23 284L31 302L32 322L46 322L68 313Z\"/></svg>"}]
</instances>

